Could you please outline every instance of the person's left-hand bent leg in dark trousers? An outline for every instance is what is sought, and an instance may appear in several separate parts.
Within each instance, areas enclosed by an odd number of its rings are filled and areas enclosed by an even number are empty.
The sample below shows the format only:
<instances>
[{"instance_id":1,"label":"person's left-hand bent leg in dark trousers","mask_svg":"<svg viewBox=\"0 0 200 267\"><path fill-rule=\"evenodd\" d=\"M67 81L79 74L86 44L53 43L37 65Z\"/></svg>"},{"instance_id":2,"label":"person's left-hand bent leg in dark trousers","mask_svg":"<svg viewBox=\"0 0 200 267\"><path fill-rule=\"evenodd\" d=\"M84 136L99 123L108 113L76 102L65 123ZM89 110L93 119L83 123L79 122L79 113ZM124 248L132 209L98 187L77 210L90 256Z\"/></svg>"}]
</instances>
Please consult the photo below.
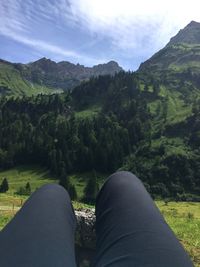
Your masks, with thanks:
<instances>
[{"instance_id":1,"label":"person's left-hand bent leg in dark trousers","mask_svg":"<svg viewBox=\"0 0 200 267\"><path fill-rule=\"evenodd\" d=\"M75 226L67 191L41 187L0 232L0 266L75 267Z\"/></svg>"}]
</instances>

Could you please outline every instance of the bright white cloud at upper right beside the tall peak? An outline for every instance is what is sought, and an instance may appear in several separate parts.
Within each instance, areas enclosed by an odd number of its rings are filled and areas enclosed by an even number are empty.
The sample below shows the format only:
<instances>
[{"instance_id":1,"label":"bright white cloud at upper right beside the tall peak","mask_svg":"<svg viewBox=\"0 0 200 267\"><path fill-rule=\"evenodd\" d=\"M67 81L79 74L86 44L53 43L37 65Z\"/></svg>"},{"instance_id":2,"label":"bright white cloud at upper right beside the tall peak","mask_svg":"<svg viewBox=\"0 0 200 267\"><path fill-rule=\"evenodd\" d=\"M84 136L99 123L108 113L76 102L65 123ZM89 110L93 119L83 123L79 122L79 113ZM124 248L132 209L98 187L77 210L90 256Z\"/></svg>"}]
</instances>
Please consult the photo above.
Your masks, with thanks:
<instances>
[{"instance_id":1,"label":"bright white cloud at upper right beside the tall peak","mask_svg":"<svg viewBox=\"0 0 200 267\"><path fill-rule=\"evenodd\" d=\"M191 20L200 21L198 0L69 0L71 19L109 37L114 47L138 53L162 47ZM140 52L143 50L142 52Z\"/></svg>"}]
</instances>

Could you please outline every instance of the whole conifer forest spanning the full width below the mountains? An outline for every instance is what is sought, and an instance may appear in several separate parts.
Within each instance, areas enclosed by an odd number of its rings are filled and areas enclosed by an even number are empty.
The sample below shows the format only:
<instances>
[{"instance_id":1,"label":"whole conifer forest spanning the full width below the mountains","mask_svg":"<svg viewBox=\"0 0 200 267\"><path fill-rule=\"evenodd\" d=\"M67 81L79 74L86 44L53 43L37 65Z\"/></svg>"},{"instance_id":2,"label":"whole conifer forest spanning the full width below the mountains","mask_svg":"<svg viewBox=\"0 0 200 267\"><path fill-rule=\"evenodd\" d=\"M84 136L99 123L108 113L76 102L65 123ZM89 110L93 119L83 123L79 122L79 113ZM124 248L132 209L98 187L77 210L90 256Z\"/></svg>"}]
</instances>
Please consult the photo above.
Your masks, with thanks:
<instances>
[{"instance_id":1,"label":"whole conifer forest spanning the full width below the mountains","mask_svg":"<svg viewBox=\"0 0 200 267\"><path fill-rule=\"evenodd\" d=\"M155 127L149 103L158 100ZM155 78L131 72L91 78L62 94L1 97L0 168L40 164L68 188L74 172L130 170L153 197L200 200L198 102L184 121L167 125L165 100ZM170 143L177 131L181 152Z\"/></svg>"}]
</instances>

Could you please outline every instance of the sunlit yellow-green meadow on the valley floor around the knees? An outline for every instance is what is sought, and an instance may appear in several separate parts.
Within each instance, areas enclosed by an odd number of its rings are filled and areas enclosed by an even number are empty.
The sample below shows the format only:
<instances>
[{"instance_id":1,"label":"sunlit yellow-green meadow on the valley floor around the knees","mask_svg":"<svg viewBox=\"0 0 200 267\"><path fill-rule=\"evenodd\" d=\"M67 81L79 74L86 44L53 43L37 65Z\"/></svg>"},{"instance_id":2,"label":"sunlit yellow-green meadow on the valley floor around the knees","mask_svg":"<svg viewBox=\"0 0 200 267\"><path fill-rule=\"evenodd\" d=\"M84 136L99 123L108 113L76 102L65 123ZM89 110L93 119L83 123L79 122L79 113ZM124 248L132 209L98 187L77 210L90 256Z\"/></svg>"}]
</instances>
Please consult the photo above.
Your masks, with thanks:
<instances>
[{"instance_id":1,"label":"sunlit yellow-green meadow on the valley floor around the knees","mask_svg":"<svg viewBox=\"0 0 200 267\"><path fill-rule=\"evenodd\" d=\"M85 181L91 175L93 174L85 173L70 176L71 181L76 185L79 197L83 194ZM102 184L105 176L96 175ZM48 171L38 166L19 166L12 170L0 172L0 180L3 177L7 177L10 190L8 193L0 194L0 229L9 222L27 199L25 196L14 195L19 186L24 186L29 181L32 190L35 190L42 184L56 182ZM163 201L157 201L156 204L190 254L195 266L200 267L200 203L170 202L166 205ZM85 207L85 205L77 202L74 202L73 205L76 209Z\"/></svg>"}]
</instances>

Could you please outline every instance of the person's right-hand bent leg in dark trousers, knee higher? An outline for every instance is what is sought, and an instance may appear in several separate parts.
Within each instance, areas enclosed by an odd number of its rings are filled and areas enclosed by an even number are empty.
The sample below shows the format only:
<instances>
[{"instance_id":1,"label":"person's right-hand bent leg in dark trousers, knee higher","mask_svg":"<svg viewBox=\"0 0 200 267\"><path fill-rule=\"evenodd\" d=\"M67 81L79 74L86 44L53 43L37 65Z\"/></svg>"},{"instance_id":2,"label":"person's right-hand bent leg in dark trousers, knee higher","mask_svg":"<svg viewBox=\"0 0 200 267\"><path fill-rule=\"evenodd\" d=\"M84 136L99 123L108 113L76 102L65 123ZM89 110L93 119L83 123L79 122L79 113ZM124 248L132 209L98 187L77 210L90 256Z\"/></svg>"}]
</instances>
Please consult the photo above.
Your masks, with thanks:
<instances>
[{"instance_id":1,"label":"person's right-hand bent leg in dark trousers, knee higher","mask_svg":"<svg viewBox=\"0 0 200 267\"><path fill-rule=\"evenodd\" d=\"M109 177L96 201L95 267L191 267L188 255L140 180Z\"/></svg>"}]
</instances>

